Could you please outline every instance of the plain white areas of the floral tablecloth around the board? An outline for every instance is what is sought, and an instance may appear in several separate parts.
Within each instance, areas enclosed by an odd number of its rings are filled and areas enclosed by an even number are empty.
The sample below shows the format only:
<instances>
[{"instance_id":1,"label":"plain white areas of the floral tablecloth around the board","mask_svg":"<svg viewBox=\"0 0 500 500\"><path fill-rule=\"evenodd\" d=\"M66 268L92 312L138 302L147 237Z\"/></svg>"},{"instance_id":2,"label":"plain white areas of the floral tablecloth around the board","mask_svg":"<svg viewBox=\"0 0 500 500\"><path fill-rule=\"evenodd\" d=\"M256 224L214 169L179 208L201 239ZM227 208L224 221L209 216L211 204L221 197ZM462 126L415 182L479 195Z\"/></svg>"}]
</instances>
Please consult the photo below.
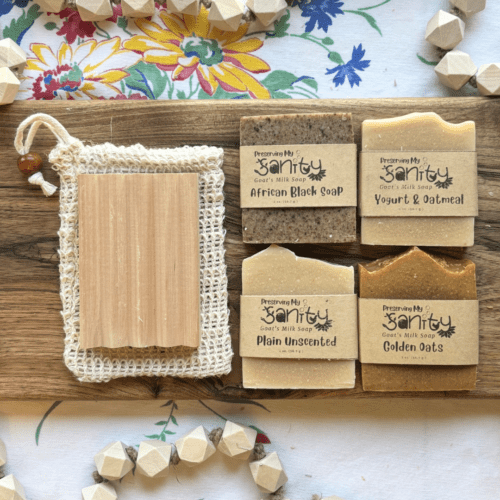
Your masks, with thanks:
<instances>
[{"instance_id":1,"label":"plain white areas of the floral tablecloth around the board","mask_svg":"<svg viewBox=\"0 0 500 500\"><path fill-rule=\"evenodd\" d=\"M8 0L2 0L8 1ZM344 8L373 5L368 0L345 1ZM381 37L359 16L334 20L328 36L348 59L353 45L363 44L370 68L362 83L337 88L324 75L324 55L305 50L299 39L267 40L259 56L296 73L314 76L321 97L418 97L453 92L437 83L433 68L416 54L436 60L423 40L425 25L443 1L393 0L370 11ZM295 27L304 24L292 9ZM19 13L19 12L18 12ZM8 17L8 16L6 16ZM0 24L6 23L0 18ZM500 2L467 23L467 39L458 48L476 65L500 60ZM40 18L40 22L47 19ZM31 30L25 43L40 32ZM322 32L318 36L325 36ZM45 33L44 36L48 36ZM30 38L31 37L31 38ZM276 64L273 64L276 61ZM329 65L326 64L328 67ZM330 66L334 66L330 64ZM300 70L298 69L300 68ZM471 89L464 91L472 92ZM464 117L464 120L467 117ZM51 403L0 403L0 436L8 447L7 472L15 472L30 500L74 500L92 484L93 455L108 442L138 444L154 434L155 422L168 416L161 402L65 402L45 421L36 444L35 432ZM199 402L178 401L180 437L192 427L208 428L223 420ZM279 452L290 478L292 500L313 493L336 494L345 500L497 500L500 498L500 401L330 400L262 402L255 405L207 402L220 415L256 425ZM182 464L162 481L128 475L117 485L121 500L256 500L262 498L248 465L221 454L195 469Z\"/></svg>"}]
</instances>

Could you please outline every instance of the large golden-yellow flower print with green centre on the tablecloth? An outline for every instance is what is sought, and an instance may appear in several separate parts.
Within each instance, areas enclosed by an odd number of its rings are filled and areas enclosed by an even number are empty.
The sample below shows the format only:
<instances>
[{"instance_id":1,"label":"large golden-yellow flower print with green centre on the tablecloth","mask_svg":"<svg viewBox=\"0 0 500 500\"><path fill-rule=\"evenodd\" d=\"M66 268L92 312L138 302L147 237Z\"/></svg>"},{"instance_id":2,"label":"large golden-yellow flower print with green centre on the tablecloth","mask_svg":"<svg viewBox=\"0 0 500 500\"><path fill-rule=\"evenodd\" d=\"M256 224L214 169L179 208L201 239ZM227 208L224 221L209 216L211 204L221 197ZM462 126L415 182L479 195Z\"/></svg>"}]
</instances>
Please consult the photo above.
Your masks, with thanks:
<instances>
[{"instance_id":1,"label":"large golden-yellow flower print with green centre on the tablecloth","mask_svg":"<svg viewBox=\"0 0 500 500\"><path fill-rule=\"evenodd\" d=\"M202 89L213 95L220 85L227 92L248 92L253 98L269 99L269 91L251 73L271 68L252 54L263 42L242 40L248 25L226 32L212 27L204 7L198 16L179 17L162 11L163 26L147 19L135 21L144 35L135 35L124 47L140 54L160 69L172 72L172 80L186 80L193 73Z\"/></svg>"}]
</instances>

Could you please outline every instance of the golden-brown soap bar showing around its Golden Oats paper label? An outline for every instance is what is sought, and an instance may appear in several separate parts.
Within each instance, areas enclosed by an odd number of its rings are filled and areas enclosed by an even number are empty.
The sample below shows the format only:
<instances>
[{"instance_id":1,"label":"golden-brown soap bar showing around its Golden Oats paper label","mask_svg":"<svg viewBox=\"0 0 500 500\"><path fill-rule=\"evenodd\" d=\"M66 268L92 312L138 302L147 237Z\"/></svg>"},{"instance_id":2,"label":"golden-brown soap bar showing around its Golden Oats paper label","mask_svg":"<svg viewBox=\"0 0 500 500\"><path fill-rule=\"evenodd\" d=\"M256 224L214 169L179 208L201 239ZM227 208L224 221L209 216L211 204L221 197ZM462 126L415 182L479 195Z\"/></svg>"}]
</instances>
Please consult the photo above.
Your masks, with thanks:
<instances>
[{"instance_id":1,"label":"golden-brown soap bar showing around its Golden Oats paper label","mask_svg":"<svg viewBox=\"0 0 500 500\"><path fill-rule=\"evenodd\" d=\"M476 300L476 266L417 247L359 264L359 296L368 299ZM475 365L361 364L365 391L458 391L476 385Z\"/></svg>"}]
</instances>

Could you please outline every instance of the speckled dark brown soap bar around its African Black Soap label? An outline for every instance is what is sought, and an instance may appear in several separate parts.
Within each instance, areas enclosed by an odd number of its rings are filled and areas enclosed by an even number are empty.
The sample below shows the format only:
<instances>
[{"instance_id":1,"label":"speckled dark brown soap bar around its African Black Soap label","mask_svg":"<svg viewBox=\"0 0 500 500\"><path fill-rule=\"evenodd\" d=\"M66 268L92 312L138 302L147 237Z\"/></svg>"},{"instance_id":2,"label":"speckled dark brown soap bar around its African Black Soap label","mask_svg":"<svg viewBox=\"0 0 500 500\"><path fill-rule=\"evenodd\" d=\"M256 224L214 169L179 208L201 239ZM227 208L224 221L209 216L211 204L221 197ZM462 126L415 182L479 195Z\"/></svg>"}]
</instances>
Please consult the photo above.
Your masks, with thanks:
<instances>
[{"instance_id":1,"label":"speckled dark brown soap bar around its African Black Soap label","mask_svg":"<svg viewBox=\"0 0 500 500\"><path fill-rule=\"evenodd\" d=\"M353 144L350 113L243 117L241 146ZM245 243L347 243L356 240L356 207L243 208Z\"/></svg>"}]
</instances>

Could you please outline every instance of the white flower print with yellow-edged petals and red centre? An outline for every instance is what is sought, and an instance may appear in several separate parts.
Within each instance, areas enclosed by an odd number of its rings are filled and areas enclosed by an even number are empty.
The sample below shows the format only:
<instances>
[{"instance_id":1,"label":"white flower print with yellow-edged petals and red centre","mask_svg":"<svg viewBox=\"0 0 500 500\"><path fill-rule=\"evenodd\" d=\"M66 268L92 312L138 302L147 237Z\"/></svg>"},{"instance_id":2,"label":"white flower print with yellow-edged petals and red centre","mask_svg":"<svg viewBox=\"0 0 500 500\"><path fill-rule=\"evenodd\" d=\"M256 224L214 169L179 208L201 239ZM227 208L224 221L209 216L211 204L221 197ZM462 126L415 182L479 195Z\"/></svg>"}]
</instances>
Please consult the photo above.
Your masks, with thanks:
<instances>
[{"instance_id":1,"label":"white flower print with yellow-edged petals and red centre","mask_svg":"<svg viewBox=\"0 0 500 500\"><path fill-rule=\"evenodd\" d=\"M121 94L114 84L129 76L124 70L142 59L121 49L119 37L89 40L73 49L62 43L57 54L43 43L31 44L36 57L28 58L24 72L31 81L33 99L98 99Z\"/></svg>"}]
</instances>

